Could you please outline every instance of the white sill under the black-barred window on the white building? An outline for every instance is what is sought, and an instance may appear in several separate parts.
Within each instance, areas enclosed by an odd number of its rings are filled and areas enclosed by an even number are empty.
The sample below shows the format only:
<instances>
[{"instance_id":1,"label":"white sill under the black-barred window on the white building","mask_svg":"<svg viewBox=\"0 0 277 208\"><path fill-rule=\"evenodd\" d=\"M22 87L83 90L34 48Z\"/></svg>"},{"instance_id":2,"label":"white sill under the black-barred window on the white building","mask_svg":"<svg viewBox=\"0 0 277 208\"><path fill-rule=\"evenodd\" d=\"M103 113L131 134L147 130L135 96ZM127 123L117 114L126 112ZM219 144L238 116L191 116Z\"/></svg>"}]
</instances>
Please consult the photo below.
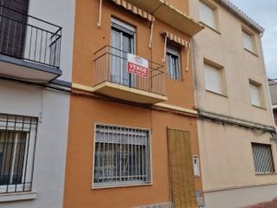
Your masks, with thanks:
<instances>
[{"instance_id":1,"label":"white sill under the black-barred window on the white building","mask_svg":"<svg viewBox=\"0 0 277 208\"><path fill-rule=\"evenodd\" d=\"M19 193L1 193L0 202L12 202L21 200L34 200L37 198L37 192L19 192Z\"/></svg>"}]
</instances>

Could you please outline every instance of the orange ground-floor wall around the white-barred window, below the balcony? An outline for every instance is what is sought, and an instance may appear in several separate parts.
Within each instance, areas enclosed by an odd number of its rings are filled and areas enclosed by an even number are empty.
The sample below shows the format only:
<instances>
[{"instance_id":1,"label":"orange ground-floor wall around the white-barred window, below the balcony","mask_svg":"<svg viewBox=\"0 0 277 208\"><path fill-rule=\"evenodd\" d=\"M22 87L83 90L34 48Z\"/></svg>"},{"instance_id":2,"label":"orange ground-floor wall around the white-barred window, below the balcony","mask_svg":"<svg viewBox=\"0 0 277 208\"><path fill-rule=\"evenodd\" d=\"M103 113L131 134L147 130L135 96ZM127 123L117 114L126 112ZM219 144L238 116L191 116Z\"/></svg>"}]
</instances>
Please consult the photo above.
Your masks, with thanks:
<instances>
[{"instance_id":1,"label":"orange ground-floor wall around the white-barred window, below the balcony","mask_svg":"<svg viewBox=\"0 0 277 208\"><path fill-rule=\"evenodd\" d=\"M196 121L184 116L73 96L70 121L64 195L66 208L127 208L170 202L167 127L190 131L193 154L198 155ZM97 122L152 130L152 185L91 189L93 128ZM196 178L195 182L196 189L202 190L201 179Z\"/></svg>"}]
</instances>

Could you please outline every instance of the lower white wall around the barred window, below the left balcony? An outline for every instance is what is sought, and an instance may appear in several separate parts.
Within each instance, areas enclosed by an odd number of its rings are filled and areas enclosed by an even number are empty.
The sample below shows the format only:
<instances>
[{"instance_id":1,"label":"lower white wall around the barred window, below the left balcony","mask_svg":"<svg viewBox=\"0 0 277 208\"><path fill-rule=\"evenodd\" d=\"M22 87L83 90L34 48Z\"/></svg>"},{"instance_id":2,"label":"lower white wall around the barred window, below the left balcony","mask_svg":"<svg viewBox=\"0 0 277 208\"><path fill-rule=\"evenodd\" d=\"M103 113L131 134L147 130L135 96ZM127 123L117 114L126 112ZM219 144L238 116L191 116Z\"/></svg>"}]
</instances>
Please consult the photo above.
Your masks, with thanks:
<instances>
[{"instance_id":1,"label":"lower white wall around the barred window, below the left balcony","mask_svg":"<svg viewBox=\"0 0 277 208\"><path fill-rule=\"evenodd\" d=\"M33 191L35 200L1 202L1 208L61 208L64 193L69 94L0 81L0 113L39 117ZM0 194L1 200L1 194Z\"/></svg>"}]
</instances>

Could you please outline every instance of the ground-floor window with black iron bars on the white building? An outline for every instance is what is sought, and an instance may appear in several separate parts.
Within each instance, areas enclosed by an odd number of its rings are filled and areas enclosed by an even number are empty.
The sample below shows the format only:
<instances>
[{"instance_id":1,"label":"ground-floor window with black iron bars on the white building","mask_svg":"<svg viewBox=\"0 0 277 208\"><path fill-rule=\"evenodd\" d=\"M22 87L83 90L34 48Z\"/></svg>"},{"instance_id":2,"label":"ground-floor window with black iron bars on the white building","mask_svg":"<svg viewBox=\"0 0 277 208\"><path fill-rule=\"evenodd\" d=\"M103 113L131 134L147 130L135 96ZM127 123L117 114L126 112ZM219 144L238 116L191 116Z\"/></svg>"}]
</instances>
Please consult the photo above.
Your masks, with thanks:
<instances>
[{"instance_id":1,"label":"ground-floor window with black iron bars on the white building","mask_svg":"<svg viewBox=\"0 0 277 208\"><path fill-rule=\"evenodd\" d=\"M37 118L0 114L0 194L32 190Z\"/></svg>"}]
</instances>

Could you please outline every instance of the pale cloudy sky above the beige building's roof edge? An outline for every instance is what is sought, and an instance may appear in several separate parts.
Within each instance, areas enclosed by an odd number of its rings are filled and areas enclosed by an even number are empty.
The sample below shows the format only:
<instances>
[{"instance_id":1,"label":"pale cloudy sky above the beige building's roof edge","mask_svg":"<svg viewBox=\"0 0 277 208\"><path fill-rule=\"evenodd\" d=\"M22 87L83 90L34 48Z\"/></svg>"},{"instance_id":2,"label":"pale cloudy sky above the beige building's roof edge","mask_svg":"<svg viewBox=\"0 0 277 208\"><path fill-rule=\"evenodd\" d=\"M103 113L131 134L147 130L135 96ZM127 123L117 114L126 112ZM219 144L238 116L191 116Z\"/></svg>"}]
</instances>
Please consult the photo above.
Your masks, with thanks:
<instances>
[{"instance_id":1,"label":"pale cloudy sky above the beige building's roof edge","mask_svg":"<svg viewBox=\"0 0 277 208\"><path fill-rule=\"evenodd\" d=\"M229 0L263 28L262 46L267 76L277 78L277 1Z\"/></svg>"}]
</instances>

